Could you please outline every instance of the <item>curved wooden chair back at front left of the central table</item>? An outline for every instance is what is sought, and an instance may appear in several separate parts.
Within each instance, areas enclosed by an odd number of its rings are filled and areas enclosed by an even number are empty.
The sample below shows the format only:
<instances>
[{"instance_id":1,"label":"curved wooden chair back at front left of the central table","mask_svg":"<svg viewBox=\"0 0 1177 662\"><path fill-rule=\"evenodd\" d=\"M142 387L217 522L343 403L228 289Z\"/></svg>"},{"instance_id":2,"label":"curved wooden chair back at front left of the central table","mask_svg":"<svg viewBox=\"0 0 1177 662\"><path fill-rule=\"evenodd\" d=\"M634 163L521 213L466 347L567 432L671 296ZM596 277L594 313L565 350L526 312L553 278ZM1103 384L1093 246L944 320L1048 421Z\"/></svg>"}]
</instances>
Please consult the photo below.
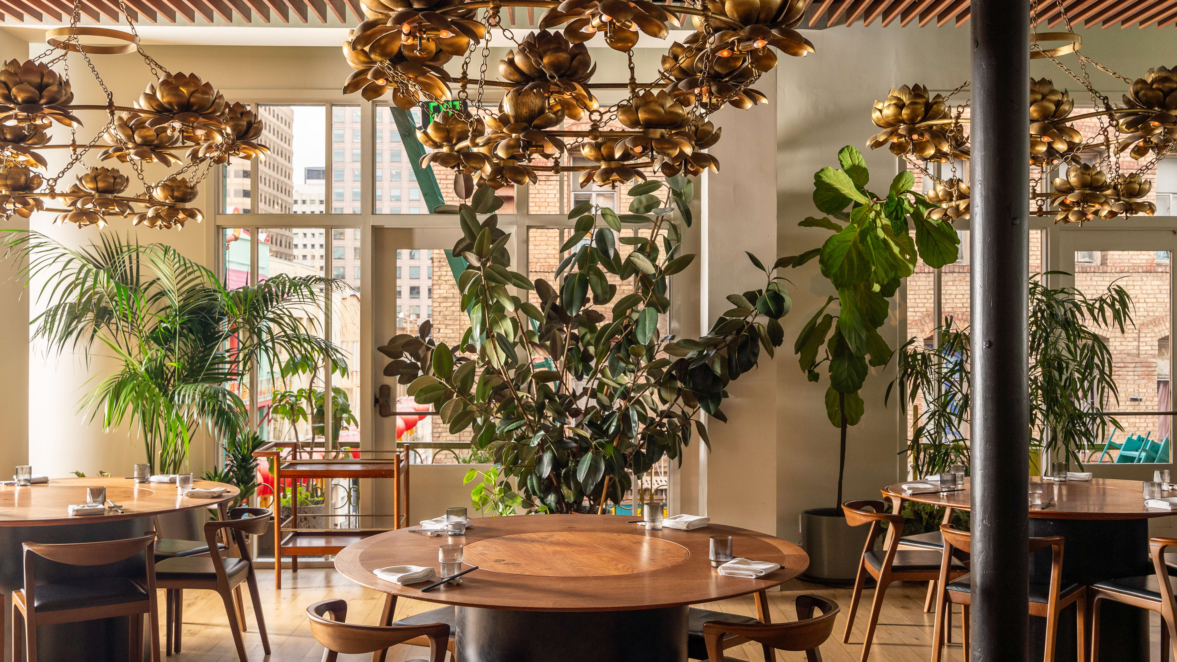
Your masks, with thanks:
<instances>
[{"instance_id":1,"label":"curved wooden chair back at front left of the central table","mask_svg":"<svg viewBox=\"0 0 1177 662\"><path fill-rule=\"evenodd\" d=\"M452 608L451 608L452 609ZM326 649L322 662L335 662L339 654L363 655L379 654L393 646L413 643L425 640L430 647L428 662L445 662L446 642L450 638L450 625L428 623L423 625L358 625L346 623L347 601L324 600L307 607L306 615L311 620L311 634ZM328 618L327 615L331 617ZM411 660L408 662L425 662Z\"/></svg>"}]
</instances>

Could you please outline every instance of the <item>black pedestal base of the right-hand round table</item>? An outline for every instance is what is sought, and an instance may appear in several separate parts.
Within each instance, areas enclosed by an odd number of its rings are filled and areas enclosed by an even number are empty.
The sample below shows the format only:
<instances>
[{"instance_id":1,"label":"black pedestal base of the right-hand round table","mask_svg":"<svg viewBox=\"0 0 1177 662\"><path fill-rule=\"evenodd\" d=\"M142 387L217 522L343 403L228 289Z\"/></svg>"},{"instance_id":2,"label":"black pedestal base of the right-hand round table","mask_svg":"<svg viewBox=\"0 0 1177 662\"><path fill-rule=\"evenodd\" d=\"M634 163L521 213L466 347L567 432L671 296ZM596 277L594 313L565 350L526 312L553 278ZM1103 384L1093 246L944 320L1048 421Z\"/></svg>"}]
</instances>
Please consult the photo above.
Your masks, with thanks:
<instances>
[{"instance_id":1,"label":"black pedestal base of the right-hand round table","mask_svg":"<svg viewBox=\"0 0 1177 662\"><path fill-rule=\"evenodd\" d=\"M1063 536L1063 580L1090 585L1104 580L1151 575L1148 519L1040 519L1030 518L1032 537ZM1050 581L1050 548L1030 558L1030 581ZM1076 660L1075 605L1058 617L1056 662ZM1117 662L1149 660L1149 611L1102 601L1099 605L1099 658ZM1089 616L1090 617L1090 616ZM1042 660L1046 620L1030 617L1030 658Z\"/></svg>"}]
</instances>

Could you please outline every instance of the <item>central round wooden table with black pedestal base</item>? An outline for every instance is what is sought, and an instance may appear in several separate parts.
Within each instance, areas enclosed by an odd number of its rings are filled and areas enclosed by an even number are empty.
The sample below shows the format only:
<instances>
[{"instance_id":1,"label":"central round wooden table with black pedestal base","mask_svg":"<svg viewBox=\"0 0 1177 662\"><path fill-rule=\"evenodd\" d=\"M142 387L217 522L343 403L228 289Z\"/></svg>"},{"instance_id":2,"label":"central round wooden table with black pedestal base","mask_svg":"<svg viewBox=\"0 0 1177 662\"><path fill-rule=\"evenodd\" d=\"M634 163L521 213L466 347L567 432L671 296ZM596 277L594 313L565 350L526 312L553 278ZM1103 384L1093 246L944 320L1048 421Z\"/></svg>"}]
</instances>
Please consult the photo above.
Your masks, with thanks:
<instances>
[{"instance_id":1,"label":"central round wooden table with black pedestal base","mask_svg":"<svg viewBox=\"0 0 1177 662\"><path fill-rule=\"evenodd\" d=\"M455 605L464 662L684 662L689 604L773 588L809 565L797 545L756 531L717 524L646 531L630 522L485 517L454 537L414 527L347 547L335 569L393 596ZM732 536L737 556L780 569L756 580L719 575L707 558L716 535ZM464 544L464 564L479 568L460 585L421 593L427 583L400 585L373 574L388 565L438 568L438 547L447 543Z\"/></svg>"}]
</instances>

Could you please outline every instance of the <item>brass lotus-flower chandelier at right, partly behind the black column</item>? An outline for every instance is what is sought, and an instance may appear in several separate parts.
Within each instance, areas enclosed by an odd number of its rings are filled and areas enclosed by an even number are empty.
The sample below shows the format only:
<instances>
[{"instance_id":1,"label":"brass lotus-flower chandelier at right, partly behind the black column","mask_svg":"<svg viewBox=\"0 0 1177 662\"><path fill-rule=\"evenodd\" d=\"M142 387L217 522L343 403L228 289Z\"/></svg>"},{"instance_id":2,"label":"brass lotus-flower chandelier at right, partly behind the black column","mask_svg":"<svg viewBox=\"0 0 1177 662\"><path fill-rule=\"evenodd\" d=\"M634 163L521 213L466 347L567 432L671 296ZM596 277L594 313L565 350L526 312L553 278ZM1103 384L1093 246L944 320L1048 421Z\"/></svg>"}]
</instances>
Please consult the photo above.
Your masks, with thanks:
<instances>
[{"instance_id":1,"label":"brass lotus-flower chandelier at right, partly behind the black column","mask_svg":"<svg viewBox=\"0 0 1177 662\"><path fill-rule=\"evenodd\" d=\"M1037 25L1038 2L1031 5L1031 25ZM1146 200L1152 190L1150 173L1157 161L1177 147L1177 67L1155 67L1143 78L1125 78L1079 52L1063 2L1058 11L1066 32L1031 34L1031 59L1049 59L1082 85L1093 111L1075 114L1075 100L1052 80L1030 79L1030 165L1033 216L1050 216L1055 223L1085 223L1096 218L1152 216L1157 207ZM1062 46L1044 48L1043 42ZM1058 57L1073 53L1076 73ZM1097 68L1129 85L1123 104L1112 104L1091 82L1088 67ZM963 164L969 160L967 101L952 105L952 97L932 95L923 85L892 87L887 98L875 101L871 119L882 131L867 141L871 148L886 146L919 171L931 184L929 203L937 206L932 218L969 218L969 186ZM1077 123L1093 120L1088 135ZM1088 123L1090 125L1090 121ZM1126 157L1137 161L1129 168ZM931 164L943 164L939 173Z\"/></svg>"}]
</instances>

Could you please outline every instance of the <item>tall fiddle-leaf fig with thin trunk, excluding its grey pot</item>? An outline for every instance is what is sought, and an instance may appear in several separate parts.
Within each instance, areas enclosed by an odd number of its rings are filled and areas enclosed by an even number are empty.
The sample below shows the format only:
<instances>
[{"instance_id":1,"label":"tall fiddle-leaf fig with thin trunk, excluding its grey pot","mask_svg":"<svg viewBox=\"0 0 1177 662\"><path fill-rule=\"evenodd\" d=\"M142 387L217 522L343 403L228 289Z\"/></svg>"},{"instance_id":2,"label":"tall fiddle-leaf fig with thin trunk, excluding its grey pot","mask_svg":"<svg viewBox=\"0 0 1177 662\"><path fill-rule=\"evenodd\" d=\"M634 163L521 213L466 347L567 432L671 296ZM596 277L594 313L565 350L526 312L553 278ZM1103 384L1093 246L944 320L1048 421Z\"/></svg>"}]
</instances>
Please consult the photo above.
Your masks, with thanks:
<instances>
[{"instance_id":1,"label":"tall fiddle-leaf fig with thin trunk, excluding its grey pot","mask_svg":"<svg viewBox=\"0 0 1177 662\"><path fill-rule=\"evenodd\" d=\"M890 299L918 259L938 269L957 260L960 239L947 220L926 213L936 205L915 192L915 177L903 171L885 196L866 188L870 172L852 146L838 152L840 168L823 167L813 176L813 205L826 216L809 217L804 227L824 227L832 234L818 249L783 258L798 267L818 259L822 276L837 290L802 329L793 345L810 382L830 378L825 409L840 430L838 507L846 465L846 431L863 417L863 388L871 366L891 360L893 350L879 335ZM915 232L912 232L915 231Z\"/></svg>"}]
</instances>

